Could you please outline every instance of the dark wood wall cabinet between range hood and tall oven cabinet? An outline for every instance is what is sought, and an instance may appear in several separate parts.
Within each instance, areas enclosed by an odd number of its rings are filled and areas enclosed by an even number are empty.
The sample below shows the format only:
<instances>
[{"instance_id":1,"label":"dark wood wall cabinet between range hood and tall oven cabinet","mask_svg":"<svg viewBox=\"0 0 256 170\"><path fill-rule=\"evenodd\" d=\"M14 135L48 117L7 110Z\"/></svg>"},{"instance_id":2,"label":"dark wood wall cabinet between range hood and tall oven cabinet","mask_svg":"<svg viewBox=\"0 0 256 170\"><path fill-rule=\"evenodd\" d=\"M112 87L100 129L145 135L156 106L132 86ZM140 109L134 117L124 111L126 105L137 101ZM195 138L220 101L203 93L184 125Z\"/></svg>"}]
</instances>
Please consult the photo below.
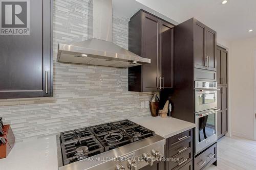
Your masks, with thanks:
<instances>
[{"instance_id":1,"label":"dark wood wall cabinet between range hood and tall oven cabinet","mask_svg":"<svg viewBox=\"0 0 256 170\"><path fill-rule=\"evenodd\" d=\"M129 91L173 87L173 25L143 10L129 22L129 51L151 59L129 68Z\"/></svg>"}]
</instances>

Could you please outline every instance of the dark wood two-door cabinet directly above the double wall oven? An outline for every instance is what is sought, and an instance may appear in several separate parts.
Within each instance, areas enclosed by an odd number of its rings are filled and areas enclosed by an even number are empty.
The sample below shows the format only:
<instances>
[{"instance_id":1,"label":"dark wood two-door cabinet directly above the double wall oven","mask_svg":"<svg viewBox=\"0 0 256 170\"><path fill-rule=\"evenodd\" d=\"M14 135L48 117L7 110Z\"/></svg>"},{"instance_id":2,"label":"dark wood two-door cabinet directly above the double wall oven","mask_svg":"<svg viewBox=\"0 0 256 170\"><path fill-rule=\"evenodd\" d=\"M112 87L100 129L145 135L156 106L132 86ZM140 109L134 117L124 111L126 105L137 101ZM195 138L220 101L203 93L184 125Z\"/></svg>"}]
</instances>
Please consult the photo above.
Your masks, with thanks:
<instances>
[{"instance_id":1,"label":"dark wood two-door cabinet directly above the double wall oven","mask_svg":"<svg viewBox=\"0 0 256 170\"><path fill-rule=\"evenodd\" d=\"M194 26L195 67L216 71L217 33L200 21L192 18ZM193 29L191 29L193 30Z\"/></svg>"}]
</instances>

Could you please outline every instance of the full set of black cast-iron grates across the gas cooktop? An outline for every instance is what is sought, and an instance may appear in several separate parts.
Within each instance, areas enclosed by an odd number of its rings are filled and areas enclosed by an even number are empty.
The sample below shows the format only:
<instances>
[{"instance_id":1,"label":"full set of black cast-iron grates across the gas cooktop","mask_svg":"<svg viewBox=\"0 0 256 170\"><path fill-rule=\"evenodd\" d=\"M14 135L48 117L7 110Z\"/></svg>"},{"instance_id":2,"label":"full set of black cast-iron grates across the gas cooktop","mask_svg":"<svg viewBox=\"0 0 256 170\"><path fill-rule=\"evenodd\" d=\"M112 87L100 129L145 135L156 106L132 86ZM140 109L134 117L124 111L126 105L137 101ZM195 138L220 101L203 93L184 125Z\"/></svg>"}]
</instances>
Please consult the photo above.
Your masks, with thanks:
<instances>
[{"instance_id":1,"label":"full set of black cast-iron grates across the gas cooktop","mask_svg":"<svg viewBox=\"0 0 256 170\"><path fill-rule=\"evenodd\" d=\"M61 132L63 164L84 160L153 135L153 131L130 120Z\"/></svg>"}]
</instances>

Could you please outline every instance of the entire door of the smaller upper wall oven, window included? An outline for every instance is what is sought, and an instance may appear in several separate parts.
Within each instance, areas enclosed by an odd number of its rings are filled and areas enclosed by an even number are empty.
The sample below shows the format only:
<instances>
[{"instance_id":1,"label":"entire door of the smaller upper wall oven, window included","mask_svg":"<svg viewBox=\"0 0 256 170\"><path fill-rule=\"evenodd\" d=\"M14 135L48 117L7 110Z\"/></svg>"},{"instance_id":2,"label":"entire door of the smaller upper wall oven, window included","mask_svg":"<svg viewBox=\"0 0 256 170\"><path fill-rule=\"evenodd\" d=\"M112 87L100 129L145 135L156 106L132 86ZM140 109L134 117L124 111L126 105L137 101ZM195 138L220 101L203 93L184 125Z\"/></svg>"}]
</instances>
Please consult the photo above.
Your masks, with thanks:
<instances>
[{"instance_id":1,"label":"entire door of the smaller upper wall oven, window included","mask_svg":"<svg viewBox=\"0 0 256 170\"><path fill-rule=\"evenodd\" d=\"M196 112L217 108L217 89L196 90Z\"/></svg>"}]
</instances>

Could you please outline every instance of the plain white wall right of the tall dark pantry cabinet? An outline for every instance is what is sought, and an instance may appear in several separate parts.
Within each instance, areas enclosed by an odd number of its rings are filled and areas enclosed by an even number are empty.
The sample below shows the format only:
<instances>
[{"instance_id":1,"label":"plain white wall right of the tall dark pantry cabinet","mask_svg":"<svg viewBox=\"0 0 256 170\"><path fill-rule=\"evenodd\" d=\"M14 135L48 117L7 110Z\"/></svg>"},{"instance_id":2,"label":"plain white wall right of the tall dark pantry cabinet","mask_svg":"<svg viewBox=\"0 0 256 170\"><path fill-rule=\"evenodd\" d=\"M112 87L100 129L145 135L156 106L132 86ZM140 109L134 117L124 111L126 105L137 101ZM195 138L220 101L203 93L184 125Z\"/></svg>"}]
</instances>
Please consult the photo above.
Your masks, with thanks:
<instances>
[{"instance_id":1,"label":"plain white wall right of the tall dark pantry cabinet","mask_svg":"<svg viewBox=\"0 0 256 170\"><path fill-rule=\"evenodd\" d=\"M232 135L254 138L254 69L256 37L230 43L229 85Z\"/></svg>"}]
</instances>

